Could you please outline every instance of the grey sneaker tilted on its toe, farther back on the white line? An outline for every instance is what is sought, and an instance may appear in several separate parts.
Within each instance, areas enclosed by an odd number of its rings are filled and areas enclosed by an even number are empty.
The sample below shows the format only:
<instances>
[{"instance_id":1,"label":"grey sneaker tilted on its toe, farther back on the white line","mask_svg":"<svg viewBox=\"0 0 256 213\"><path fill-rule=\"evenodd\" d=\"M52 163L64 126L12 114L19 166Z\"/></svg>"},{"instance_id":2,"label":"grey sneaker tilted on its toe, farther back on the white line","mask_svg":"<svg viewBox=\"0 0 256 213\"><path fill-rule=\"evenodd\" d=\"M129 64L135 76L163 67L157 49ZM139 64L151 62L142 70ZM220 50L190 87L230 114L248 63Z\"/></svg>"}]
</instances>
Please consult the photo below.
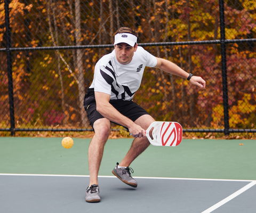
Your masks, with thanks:
<instances>
[{"instance_id":1,"label":"grey sneaker tilted on its toe, farther back on the white line","mask_svg":"<svg viewBox=\"0 0 256 213\"><path fill-rule=\"evenodd\" d=\"M124 183L128 184L132 187L137 187L138 183L135 179L132 178L131 173L133 173L133 169L126 167L126 168L117 168L119 163L116 163L115 168L112 170L113 175L121 179ZM131 173L130 173L131 171Z\"/></svg>"}]
</instances>

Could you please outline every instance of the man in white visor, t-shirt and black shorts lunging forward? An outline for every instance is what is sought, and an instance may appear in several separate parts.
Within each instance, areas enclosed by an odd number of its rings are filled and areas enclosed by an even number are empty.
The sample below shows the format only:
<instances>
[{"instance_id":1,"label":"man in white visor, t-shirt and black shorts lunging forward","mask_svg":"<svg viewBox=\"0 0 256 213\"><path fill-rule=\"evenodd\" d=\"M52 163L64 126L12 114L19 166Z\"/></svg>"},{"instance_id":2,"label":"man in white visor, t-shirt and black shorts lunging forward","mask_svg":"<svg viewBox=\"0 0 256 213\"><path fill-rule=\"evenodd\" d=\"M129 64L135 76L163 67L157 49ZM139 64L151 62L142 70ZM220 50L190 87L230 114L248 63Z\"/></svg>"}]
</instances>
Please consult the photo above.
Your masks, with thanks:
<instances>
[{"instance_id":1,"label":"man in white visor, t-shirt and black shorts lunging forward","mask_svg":"<svg viewBox=\"0 0 256 213\"><path fill-rule=\"evenodd\" d=\"M135 137L130 150L112 173L132 187L138 185L131 176L129 166L149 146L145 129L155 121L146 110L132 101L140 87L145 67L162 69L205 88L205 81L201 77L193 76L174 63L156 58L139 47L137 37L137 32L130 28L117 30L115 50L97 62L92 84L85 95L84 107L95 133L88 151L90 184L86 190L87 202L100 201L98 172L110 133L110 122L124 126Z\"/></svg>"}]
</instances>

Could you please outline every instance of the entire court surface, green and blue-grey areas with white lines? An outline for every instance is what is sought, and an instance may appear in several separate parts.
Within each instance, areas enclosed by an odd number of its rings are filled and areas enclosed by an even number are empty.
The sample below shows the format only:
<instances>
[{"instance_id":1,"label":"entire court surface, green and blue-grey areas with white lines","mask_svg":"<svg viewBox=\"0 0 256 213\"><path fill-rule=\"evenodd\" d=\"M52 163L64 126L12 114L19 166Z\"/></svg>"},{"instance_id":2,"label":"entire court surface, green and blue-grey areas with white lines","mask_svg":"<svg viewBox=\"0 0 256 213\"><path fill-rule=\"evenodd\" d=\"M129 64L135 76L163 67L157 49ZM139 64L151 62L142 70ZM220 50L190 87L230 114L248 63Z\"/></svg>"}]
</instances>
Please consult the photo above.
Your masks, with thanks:
<instances>
[{"instance_id":1,"label":"entire court surface, green and blue-grey areas with white lines","mask_svg":"<svg viewBox=\"0 0 256 213\"><path fill-rule=\"evenodd\" d=\"M71 149L61 140L0 137L1 212L255 212L255 140L150 145L131 165L135 189L111 174L132 140L108 140L99 203L85 202L90 139L73 138Z\"/></svg>"}]
</instances>

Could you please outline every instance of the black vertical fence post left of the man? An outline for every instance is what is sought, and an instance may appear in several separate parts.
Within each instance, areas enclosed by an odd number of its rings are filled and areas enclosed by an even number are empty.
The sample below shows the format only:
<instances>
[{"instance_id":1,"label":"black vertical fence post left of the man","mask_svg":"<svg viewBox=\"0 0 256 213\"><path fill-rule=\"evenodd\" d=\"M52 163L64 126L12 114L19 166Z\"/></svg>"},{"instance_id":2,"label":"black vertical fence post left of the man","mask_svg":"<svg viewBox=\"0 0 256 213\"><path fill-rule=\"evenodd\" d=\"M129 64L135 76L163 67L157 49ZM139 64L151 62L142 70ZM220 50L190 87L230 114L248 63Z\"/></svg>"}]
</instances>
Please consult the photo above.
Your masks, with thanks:
<instances>
[{"instance_id":1,"label":"black vertical fence post left of the man","mask_svg":"<svg viewBox=\"0 0 256 213\"><path fill-rule=\"evenodd\" d=\"M8 72L11 135L14 136L15 120L14 120L13 80L12 80L12 52L10 50L10 48L11 48L11 29L10 29L9 0L4 0L4 10L5 10L6 53L7 53L7 72Z\"/></svg>"}]
</instances>

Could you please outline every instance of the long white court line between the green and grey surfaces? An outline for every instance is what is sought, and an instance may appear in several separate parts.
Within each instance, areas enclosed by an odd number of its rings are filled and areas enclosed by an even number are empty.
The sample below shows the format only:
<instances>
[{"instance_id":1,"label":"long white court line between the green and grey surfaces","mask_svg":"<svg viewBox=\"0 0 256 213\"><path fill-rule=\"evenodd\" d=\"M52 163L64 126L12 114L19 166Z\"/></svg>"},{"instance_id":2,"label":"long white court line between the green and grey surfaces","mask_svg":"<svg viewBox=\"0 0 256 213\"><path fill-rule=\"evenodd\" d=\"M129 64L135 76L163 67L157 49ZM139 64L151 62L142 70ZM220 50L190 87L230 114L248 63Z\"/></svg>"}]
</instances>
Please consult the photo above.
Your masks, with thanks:
<instances>
[{"instance_id":1,"label":"long white court line between the green and grey surfaces","mask_svg":"<svg viewBox=\"0 0 256 213\"><path fill-rule=\"evenodd\" d=\"M13 175L13 176L49 176L49 177L90 177L89 175L51 175L51 174L13 174L13 173L0 173L0 175ZM98 177L110 177L116 178L116 176L104 176ZM242 180L242 179L206 179L206 178L176 178L176 177L135 177L141 179L172 179L172 180L185 180L185 181L231 181L231 182L254 182L255 180ZM256 182L256 181L255 181Z\"/></svg>"}]
</instances>

